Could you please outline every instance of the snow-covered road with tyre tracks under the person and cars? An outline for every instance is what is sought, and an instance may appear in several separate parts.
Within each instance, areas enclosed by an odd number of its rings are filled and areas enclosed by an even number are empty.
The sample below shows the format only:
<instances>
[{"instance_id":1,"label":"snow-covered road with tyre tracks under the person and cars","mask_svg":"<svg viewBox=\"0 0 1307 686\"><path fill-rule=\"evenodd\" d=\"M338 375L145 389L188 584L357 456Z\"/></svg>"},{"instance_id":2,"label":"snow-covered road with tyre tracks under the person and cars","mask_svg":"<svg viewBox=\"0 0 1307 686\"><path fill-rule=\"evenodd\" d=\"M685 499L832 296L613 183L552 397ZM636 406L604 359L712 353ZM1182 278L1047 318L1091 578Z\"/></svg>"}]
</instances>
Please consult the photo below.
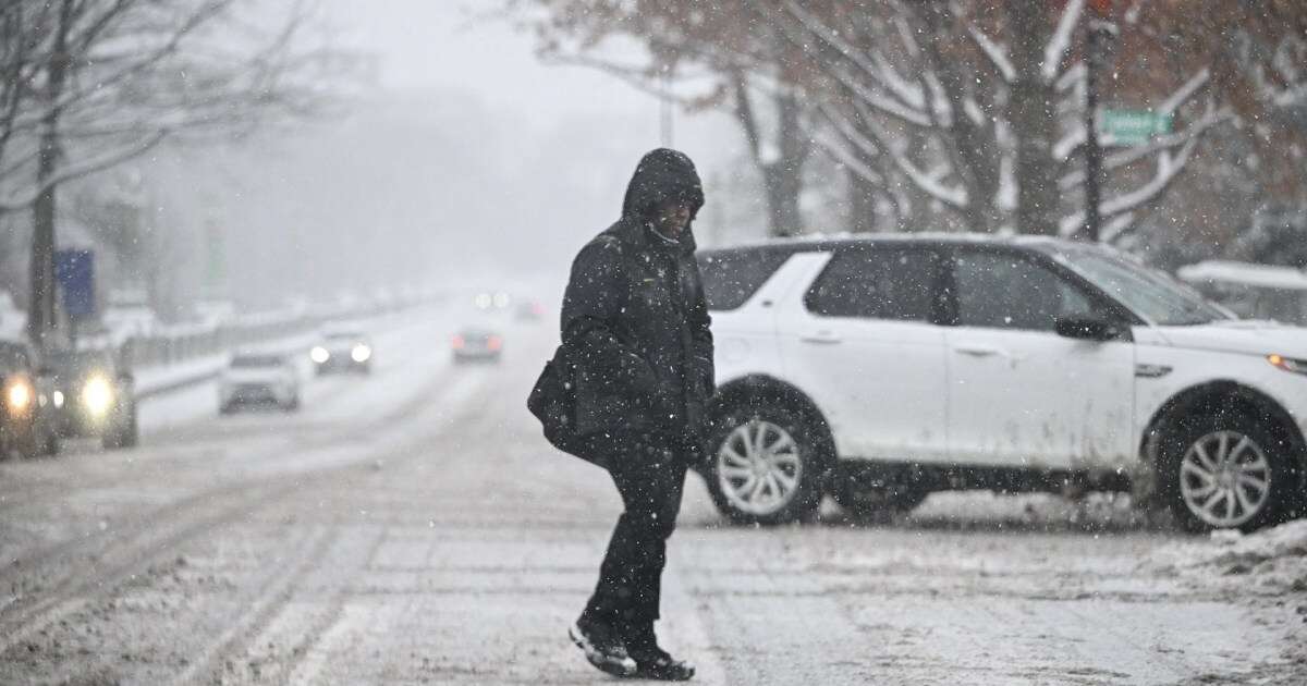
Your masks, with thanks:
<instances>
[{"instance_id":1,"label":"snow-covered road with tyre tracks under the person and cars","mask_svg":"<svg viewBox=\"0 0 1307 686\"><path fill-rule=\"evenodd\" d=\"M0 463L0 683L606 683L565 635L620 508L524 397L554 335L378 333L298 416L152 399L133 451ZM1048 498L721 525L690 477L665 643L701 683L1307 683L1307 527L1191 538ZM1093 527L1084 527L1085 523Z\"/></svg>"}]
</instances>

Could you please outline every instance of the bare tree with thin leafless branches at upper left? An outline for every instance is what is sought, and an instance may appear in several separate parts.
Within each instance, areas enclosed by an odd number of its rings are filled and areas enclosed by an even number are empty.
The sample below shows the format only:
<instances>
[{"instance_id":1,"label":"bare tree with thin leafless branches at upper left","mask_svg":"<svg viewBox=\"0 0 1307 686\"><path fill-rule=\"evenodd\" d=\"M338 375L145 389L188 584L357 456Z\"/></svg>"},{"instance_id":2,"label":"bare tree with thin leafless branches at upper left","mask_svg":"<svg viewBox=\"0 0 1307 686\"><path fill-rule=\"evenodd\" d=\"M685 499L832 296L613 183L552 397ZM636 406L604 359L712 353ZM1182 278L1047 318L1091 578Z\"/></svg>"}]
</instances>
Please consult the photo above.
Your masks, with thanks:
<instances>
[{"instance_id":1,"label":"bare tree with thin leafless branches at upper left","mask_svg":"<svg viewBox=\"0 0 1307 686\"><path fill-rule=\"evenodd\" d=\"M248 0L7 4L0 212L33 213L29 335L35 341L55 324L59 186L167 139L239 136L312 112L336 56L302 41L311 16L305 0L281 12Z\"/></svg>"}]
</instances>

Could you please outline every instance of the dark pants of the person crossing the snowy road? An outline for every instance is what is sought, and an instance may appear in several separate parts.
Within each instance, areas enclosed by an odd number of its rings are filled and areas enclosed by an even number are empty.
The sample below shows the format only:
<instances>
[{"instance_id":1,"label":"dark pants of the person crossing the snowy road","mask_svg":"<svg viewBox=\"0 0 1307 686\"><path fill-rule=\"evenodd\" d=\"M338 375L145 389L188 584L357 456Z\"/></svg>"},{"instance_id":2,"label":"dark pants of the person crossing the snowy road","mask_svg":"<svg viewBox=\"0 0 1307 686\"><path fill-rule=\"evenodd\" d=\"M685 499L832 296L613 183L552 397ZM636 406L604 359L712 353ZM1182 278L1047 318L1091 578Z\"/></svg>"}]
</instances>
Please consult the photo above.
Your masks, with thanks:
<instances>
[{"instance_id":1,"label":"dark pants of the person crossing the snowy road","mask_svg":"<svg viewBox=\"0 0 1307 686\"><path fill-rule=\"evenodd\" d=\"M617 519L582 619L652 626L659 618L667 540L681 510L686 456L685 448L668 447L668 442L622 443L610 448L609 474L626 510Z\"/></svg>"}]
</instances>

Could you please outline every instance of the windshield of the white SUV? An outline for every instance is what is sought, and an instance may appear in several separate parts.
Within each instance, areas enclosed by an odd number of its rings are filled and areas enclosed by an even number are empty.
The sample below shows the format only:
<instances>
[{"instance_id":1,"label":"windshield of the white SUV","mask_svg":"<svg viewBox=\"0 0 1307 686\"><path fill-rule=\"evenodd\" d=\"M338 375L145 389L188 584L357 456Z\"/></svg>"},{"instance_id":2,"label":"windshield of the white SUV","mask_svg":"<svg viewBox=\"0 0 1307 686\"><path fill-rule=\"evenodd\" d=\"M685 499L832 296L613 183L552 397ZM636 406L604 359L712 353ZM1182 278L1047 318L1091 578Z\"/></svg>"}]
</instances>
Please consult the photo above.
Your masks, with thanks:
<instances>
[{"instance_id":1,"label":"windshield of the white SUV","mask_svg":"<svg viewBox=\"0 0 1307 686\"><path fill-rule=\"evenodd\" d=\"M1166 274L1097 250L1068 250L1057 260L1158 325L1195 325L1233 319Z\"/></svg>"}]
</instances>

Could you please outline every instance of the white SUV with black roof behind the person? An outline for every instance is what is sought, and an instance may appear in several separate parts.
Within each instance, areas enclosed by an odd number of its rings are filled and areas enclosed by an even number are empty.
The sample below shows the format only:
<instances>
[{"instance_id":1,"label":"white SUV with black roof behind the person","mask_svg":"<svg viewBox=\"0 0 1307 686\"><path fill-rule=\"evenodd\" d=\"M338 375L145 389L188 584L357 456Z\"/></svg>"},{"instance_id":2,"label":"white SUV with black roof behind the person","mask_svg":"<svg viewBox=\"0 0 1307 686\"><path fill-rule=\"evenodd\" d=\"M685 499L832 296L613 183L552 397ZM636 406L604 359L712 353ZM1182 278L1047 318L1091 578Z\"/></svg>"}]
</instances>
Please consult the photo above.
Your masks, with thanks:
<instances>
[{"instance_id":1,"label":"white SUV with black roof behind the person","mask_svg":"<svg viewBox=\"0 0 1307 686\"><path fill-rule=\"evenodd\" d=\"M1240 321L1119 252L876 237L702 251L738 521L931 491L1133 490L1191 529L1303 511L1307 329Z\"/></svg>"}]
</instances>

